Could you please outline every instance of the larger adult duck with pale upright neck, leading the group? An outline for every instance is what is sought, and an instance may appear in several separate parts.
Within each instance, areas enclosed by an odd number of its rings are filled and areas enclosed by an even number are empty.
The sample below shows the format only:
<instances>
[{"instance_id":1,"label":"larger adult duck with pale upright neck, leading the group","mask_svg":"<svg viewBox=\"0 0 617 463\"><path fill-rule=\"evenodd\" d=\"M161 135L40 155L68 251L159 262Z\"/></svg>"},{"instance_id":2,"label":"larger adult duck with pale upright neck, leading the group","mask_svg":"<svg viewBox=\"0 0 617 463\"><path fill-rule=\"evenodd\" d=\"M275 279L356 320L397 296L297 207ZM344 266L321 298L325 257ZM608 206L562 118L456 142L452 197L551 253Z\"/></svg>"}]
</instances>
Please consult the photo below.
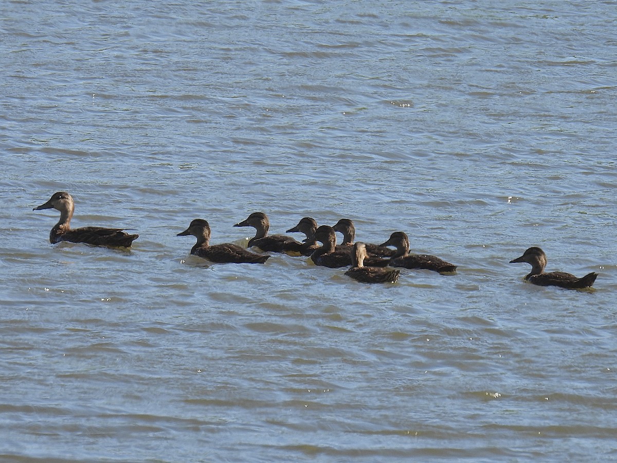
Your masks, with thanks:
<instances>
[{"instance_id":1,"label":"larger adult duck with pale upright neck, leading the group","mask_svg":"<svg viewBox=\"0 0 617 463\"><path fill-rule=\"evenodd\" d=\"M49 242L51 244L69 241L70 243L85 243L110 248L130 248L133 241L139 237L139 235L126 233L123 228L71 228L75 201L66 191L58 191L52 194L48 202L34 207L32 210L41 211L43 209L56 209L56 211L60 211L60 220L49 232Z\"/></svg>"}]
</instances>

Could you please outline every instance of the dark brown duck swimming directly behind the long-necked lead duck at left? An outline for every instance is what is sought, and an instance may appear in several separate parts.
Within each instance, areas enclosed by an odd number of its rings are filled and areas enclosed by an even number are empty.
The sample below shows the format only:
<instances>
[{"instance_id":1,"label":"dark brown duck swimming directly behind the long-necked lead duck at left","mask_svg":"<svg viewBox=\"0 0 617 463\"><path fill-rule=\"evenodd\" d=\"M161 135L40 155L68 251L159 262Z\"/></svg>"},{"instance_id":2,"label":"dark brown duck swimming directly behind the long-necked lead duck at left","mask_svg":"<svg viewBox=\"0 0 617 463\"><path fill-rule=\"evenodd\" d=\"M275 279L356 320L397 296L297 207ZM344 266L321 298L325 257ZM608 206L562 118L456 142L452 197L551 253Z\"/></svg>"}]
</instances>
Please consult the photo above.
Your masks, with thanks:
<instances>
[{"instance_id":1,"label":"dark brown duck swimming directly behind the long-necked lead duck at left","mask_svg":"<svg viewBox=\"0 0 617 463\"><path fill-rule=\"evenodd\" d=\"M194 256L203 257L210 262L219 264L263 264L270 256L262 256L238 246L238 244L223 243L210 246L210 224L204 219L195 219L189 228L178 233L177 236L193 235L197 243L191 249Z\"/></svg>"}]
</instances>

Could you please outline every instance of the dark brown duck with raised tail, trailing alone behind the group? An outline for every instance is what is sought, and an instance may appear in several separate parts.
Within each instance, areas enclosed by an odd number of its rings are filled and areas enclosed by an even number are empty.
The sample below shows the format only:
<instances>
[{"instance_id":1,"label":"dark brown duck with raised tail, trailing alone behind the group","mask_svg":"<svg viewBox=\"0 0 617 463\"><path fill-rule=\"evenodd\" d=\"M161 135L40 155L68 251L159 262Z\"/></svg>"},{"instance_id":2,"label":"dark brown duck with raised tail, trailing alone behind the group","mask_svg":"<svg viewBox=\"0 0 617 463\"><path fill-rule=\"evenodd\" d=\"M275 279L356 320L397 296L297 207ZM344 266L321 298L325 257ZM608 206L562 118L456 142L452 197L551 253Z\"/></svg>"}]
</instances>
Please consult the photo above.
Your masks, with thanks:
<instances>
[{"instance_id":1,"label":"dark brown duck with raised tail, trailing alone behind the group","mask_svg":"<svg viewBox=\"0 0 617 463\"><path fill-rule=\"evenodd\" d=\"M531 264L531 272L526 275L525 280L539 286L560 286L560 288L581 289L591 288L598 274L595 272L587 273L582 278L575 277L566 272L547 272L544 273L547 259L542 249L533 247L523 252L523 256L510 261L510 264L517 262L527 262Z\"/></svg>"}]
</instances>

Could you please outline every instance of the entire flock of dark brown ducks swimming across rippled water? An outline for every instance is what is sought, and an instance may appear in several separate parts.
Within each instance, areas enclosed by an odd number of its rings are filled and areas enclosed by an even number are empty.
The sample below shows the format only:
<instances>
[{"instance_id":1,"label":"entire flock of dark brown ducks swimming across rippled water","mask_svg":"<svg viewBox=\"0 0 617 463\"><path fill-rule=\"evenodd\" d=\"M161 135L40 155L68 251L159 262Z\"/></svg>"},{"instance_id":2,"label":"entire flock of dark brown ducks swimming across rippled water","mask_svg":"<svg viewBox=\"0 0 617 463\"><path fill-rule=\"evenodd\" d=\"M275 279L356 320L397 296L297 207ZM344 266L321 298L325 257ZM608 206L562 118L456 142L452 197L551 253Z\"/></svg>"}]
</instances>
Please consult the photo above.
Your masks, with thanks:
<instances>
[{"instance_id":1,"label":"entire flock of dark brown ducks swimming across rippled water","mask_svg":"<svg viewBox=\"0 0 617 463\"><path fill-rule=\"evenodd\" d=\"M71 243L86 243L94 246L110 246L128 248L139 235L130 235L122 228L81 227L70 228L70 222L75 211L75 204L70 194L65 191L54 193L49 201L35 207L41 209L56 209L60 211L60 220L49 233L52 244L60 241ZM428 254L410 254L409 238L403 231L395 231L390 238L381 244L354 243L355 227L350 219L339 220L334 227L317 226L310 217L304 217L286 233L304 233L306 239L302 242L286 235L268 235L270 222L263 212L253 212L246 220L236 223L234 227L253 227L255 236L249 240L249 248L259 248L265 252L284 252L292 256L310 256L315 265L323 265L333 269L349 267L345 272L354 280L363 283L395 283L400 270L391 267L407 269L433 270L442 274L452 274L456 265L445 262L439 257ZM342 233L342 244L336 244L336 232ZM210 225L204 219L195 219L189 227L178 233L178 236L193 235L197 243L191 249L191 254L203 257L211 262L233 262L235 264L263 264L270 257L268 254L257 254L248 251L237 244L210 244ZM319 246L317 243L321 243ZM395 249L391 249L395 248ZM560 286L561 288L590 288L597 273L591 272L582 278L571 273L544 272L547 264L546 254L540 248L529 248L523 256L510 261L527 262L531 264L531 272L525 279L534 285Z\"/></svg>"}]
</instances>

